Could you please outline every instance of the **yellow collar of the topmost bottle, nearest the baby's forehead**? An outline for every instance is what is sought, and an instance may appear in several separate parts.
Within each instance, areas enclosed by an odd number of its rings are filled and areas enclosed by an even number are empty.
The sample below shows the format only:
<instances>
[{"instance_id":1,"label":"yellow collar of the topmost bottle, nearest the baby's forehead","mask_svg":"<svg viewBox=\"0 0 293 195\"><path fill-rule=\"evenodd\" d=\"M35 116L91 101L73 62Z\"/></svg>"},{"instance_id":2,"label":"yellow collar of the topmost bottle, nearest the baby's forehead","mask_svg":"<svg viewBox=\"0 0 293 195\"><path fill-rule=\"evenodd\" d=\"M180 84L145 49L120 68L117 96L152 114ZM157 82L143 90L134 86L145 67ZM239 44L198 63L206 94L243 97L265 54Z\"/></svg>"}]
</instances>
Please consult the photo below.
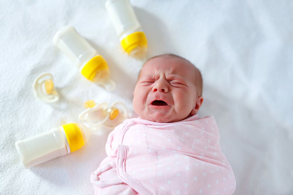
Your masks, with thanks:
<instances>
[{"instance_id":1,"label":"yellow collar of the topmost bottle, nearest the baby's forehead","mask_svg":"<svg viewBox=\"0 0 293 195\"><path fill-rule=\"evenodd\" d=\"M123 49L130 54L130 52L138 46L144 46L147 48L147 37L144 32L134 32L122 39L121 45Z\"/></svg>"}]
</instances>

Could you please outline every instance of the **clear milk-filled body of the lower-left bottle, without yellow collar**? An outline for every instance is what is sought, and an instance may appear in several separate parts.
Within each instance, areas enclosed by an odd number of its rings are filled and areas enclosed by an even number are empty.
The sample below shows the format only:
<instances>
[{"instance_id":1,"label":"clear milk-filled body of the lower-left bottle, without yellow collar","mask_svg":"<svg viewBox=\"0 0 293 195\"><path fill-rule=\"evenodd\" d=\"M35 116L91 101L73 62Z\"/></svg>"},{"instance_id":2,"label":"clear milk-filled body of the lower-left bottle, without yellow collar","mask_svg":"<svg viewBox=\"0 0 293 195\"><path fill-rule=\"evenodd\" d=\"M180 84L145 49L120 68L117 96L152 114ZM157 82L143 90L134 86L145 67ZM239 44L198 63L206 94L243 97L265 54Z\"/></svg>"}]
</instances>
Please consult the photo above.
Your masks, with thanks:
<instances>
[{"instance_id":1,"label":"clear milk-filled body of the lower-left bottle, without yellow collar","mask_svg":"<svg viewBox=\"0 0 293 195\"><path fill-rule=\"evenodd\" d=\"M58 127L33 137L16 141L15 145L25 168L67 154L66 142Z\"/></svg>"}]
</instances>

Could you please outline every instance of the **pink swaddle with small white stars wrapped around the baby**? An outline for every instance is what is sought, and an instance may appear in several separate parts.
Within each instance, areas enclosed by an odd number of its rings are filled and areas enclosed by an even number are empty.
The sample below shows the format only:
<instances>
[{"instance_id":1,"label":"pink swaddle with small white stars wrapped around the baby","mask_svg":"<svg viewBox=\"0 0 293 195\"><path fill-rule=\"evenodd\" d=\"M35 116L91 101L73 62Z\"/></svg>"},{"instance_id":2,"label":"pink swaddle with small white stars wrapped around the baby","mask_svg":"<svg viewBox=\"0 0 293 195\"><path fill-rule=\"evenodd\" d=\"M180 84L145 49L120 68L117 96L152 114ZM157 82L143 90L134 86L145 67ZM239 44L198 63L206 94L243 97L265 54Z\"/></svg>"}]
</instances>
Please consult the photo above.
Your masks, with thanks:
<instances>
[{"instance_id":1,"label":"pink swaddle with small white stars wrapped around the baby","mask_svg":"<svg viewBox=\"0 0 293 195\"><path fill-rule=\"evenodd\" d=\"M213 116L194 115L173 123L127 119L109 134L106 153L108 157L91 174L96 194L111 186L123 187L118 184L139 194L235 191L234 173L220 149Z\"/></svg>"}]
</instances>

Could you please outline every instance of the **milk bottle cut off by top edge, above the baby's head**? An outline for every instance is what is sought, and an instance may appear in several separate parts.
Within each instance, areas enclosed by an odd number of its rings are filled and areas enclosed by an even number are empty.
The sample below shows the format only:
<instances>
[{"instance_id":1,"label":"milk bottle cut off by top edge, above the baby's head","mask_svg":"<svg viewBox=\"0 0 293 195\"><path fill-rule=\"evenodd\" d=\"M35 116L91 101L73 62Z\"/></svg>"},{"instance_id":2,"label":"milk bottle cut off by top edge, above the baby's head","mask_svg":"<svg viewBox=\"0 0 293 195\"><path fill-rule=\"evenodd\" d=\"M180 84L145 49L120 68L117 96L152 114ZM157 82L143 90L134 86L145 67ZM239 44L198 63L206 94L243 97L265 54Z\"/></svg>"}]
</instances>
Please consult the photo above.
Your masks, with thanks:
<instances>
[{"instance_id":1,"label":"milk bottle cut off by top edge, above the baby's head","mask_svg":"<svg viewBox=\"0 0 293 195\"><path fill-rule=\"evenodd\" d=\"M123 49L129 56L143 58L147 53L147 38L129 0L107 0L105 7Z\"/></svg>"}]
</instances>

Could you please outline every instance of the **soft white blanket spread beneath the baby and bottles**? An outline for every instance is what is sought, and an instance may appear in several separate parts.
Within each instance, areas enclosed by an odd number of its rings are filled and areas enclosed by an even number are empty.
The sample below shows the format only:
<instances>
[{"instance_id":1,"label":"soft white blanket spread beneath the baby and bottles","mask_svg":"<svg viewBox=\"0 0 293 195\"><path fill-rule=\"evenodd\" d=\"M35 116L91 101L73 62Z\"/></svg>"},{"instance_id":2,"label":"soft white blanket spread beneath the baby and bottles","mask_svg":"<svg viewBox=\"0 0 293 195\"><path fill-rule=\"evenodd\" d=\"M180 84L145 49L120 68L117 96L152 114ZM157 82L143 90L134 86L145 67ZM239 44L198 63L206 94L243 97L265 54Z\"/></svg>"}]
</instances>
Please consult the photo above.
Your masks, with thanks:
<instances>
[{"instance_id":1,"label":"soft white blanket spread beneath the baby and bottles","mask_svg":"<svg viewBox=\"0 0 293 195\"><path fill-rule=\"evenodd\" d=\"M148 57L174 53L204 80L201 117L214 115L231 164L234 194L293 193L293 3L273 0L131 0ZM116 90L86 80L52 43L72 25L108 62ZM15 141L79 122L83 104L120 100L130 116L139 62L125 54L104 1L0 1L0 194L93 194L90 174L105 157L108 132L79 151L30 169ZM33 80L49 72L56 103L35 99Z\"/></svg>"}]
</instances>

